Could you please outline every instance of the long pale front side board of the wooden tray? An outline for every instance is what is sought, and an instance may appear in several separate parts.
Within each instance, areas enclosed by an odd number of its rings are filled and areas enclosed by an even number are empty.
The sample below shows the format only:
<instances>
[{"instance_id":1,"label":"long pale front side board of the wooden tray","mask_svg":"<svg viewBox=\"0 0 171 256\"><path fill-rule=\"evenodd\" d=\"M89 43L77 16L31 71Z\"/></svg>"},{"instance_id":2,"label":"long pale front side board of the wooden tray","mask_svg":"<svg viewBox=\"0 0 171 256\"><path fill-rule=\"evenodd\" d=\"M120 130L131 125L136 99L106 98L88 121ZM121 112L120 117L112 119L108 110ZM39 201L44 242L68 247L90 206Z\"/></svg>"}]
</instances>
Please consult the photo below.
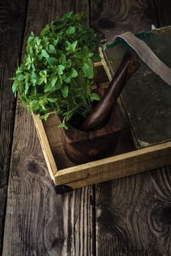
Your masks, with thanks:
<instances>
[{"instance_id":1,"label":"long pale front side board of the wooden tray","mask_svg":"<svg viewBox=\"0 0 171 256\"><path fill-rule=\"evenodd\" d=\"M170 154L171 142L161 143L60 170L55 175L55 181L56 184L66 184L72 188L109 181L171 165Z\"/></svg>"}]
</instances>

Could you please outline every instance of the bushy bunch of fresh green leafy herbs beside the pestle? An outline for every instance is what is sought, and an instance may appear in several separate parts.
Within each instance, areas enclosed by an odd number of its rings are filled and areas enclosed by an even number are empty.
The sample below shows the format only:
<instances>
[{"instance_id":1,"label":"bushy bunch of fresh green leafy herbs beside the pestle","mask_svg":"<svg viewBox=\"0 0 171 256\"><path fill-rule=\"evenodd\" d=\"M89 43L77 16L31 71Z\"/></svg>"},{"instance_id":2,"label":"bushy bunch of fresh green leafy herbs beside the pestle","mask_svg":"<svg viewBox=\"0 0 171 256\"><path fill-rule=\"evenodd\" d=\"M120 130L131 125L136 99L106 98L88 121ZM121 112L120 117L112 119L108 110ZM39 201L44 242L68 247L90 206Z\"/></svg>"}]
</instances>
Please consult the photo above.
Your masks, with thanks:
<instances>
[{"instance_id":1,"label":"bushy bunch of fresh green leafy herbs beside the pestle","mask_svg":"<svg viewBox=\"0 0 171 256\"><path fill-rule=\"evenodd\" d=\"M45 120L50 112L65 120L79 113L86 117L98 94L91 91L95 53L101 37L83 25L84 15L69 12L45 26L40 37L28 37L27 54L16 70L12 91L23 105Z\"/></svg>"}]
</instances>

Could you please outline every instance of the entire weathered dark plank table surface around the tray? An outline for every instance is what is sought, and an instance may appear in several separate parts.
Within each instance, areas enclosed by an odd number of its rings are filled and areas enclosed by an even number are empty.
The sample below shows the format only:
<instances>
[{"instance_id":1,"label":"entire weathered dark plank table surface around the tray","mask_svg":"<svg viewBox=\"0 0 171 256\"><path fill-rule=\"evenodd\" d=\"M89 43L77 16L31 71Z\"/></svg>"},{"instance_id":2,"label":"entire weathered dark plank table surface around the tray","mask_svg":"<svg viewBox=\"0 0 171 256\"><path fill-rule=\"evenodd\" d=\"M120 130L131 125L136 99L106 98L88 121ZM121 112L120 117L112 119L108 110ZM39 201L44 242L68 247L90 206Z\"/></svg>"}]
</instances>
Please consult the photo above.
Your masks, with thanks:
<instances>
[{"instance_id":1,"label":"entire weathered dark plank table surface around the tray","mask_svg":"<svg viewBox=\"0 0 171 256\"><path fill-rule=\"evenodd\" d=\"M108 40L171 24L170 0L0 1L0 254L169 256L170 166L56 195L33 120L12 95L30 31L70 10L86 11Z\"/></svg>"}]
</instances>

